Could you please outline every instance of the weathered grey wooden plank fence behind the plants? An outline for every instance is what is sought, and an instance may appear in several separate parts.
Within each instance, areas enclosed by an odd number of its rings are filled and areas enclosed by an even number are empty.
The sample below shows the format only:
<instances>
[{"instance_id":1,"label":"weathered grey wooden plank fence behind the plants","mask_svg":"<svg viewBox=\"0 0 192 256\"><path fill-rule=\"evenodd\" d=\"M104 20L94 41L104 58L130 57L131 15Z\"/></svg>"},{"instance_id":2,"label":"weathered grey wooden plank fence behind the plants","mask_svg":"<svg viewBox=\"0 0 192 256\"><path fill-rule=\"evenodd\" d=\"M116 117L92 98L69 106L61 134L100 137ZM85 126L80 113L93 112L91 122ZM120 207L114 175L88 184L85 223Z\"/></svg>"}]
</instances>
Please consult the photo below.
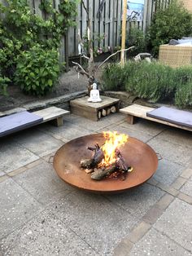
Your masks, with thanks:
<instances>
[{"instance_id":1,"label":"weathered grey wooden plank fence behind the plants","mask_svg":"<svg viewBox=\"0 0 192 256\"><path fill-rule=\"evenodd\" d=\"M57 9L59 0L52 0L53 6ZM151 24L151 17L157 8L167 7L172 0L145 0L142 21L127 21L127 32L130 28L136 27L144 33ZM6 0L0 0L6 2ZM42 15L39 9L41 0L28 0L33 13ZM92 15L94 47L106 48L112 50L120 46L120 28L122 17L123 0L84 0L85 6ZM130 0L131 2L131 0ZM70 28L68 35L61 42L62 61L68 61L69 57L78 55L78 32L81 38L85 37L87 13L80 3L78 5L78 15L76 16L76 28Z\"/></svg>"}]
</instances>

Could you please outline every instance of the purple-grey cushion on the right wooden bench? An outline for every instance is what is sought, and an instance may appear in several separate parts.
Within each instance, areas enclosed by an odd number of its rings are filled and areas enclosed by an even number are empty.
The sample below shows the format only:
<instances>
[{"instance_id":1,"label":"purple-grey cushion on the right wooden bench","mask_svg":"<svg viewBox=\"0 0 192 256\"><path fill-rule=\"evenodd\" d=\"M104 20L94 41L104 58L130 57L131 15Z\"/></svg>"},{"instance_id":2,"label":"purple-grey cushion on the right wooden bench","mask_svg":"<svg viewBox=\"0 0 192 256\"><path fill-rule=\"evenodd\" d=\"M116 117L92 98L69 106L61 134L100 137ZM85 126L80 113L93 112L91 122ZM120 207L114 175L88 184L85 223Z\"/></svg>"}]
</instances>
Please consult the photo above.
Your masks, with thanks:
<instances>
[{"instance_id":1,"label":"purple-grey cushion on the right wooden bench","mask_svg":"<svg viewBox=\"0 0 192 256\"><path fill-rule=\"evenodd\" d=\"M160 107L146 113L146 116L192 128L192 113L184 110Z\"/></svg>"}]
</instances>

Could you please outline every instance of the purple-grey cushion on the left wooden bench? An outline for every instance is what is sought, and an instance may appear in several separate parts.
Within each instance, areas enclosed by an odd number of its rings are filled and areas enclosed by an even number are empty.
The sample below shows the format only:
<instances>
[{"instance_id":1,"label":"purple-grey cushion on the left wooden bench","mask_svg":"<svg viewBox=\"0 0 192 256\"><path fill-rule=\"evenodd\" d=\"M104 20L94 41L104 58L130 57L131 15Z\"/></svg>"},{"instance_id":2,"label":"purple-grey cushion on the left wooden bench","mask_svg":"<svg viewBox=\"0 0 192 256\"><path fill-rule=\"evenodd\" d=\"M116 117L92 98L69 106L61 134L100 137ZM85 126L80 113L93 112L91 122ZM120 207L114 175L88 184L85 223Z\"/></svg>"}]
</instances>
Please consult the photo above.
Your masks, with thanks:
<instances>
[{"instance_id":1,"label":"purple-grey cushion on the left wooden bench","mask_svg":"<svg viewBox=\"0 0 192 256\"><path fill-rule=\"evenodd\" d=\"M36 126L43 121L39 117L28 111L11 114L6 117L0 118L0 137L10 135L11 133L19 130L24 130L28 127Z\"/></svg>"}]
</instances>

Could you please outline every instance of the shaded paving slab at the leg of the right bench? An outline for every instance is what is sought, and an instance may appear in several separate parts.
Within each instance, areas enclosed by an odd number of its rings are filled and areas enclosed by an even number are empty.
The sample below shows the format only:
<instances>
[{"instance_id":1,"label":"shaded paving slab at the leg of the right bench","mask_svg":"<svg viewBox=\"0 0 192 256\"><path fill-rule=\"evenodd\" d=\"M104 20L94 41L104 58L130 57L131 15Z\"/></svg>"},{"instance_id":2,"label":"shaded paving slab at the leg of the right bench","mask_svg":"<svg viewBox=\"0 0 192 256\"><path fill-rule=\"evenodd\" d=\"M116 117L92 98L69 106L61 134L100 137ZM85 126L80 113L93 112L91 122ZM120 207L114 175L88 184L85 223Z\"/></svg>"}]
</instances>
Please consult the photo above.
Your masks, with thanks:
<instances>
[{"instance_id":1,"label":"shaded paving slab at the leg of the right bench","mask_svg":"<svg viewBox=\"0 0 192 256\"><path fill-rule=\"evenodd\" d=\"M147 121L144 119L138 119L138 121L134 125L130 125L128 121L124 121L120 124L120 126L123 126L131 130L137 130L142 133L146 133L147 135L153 136L159 135L160 132L167 129L168 127L161 125L159 123L155 123L154 121Z\"/></svg>"}]
</instances>

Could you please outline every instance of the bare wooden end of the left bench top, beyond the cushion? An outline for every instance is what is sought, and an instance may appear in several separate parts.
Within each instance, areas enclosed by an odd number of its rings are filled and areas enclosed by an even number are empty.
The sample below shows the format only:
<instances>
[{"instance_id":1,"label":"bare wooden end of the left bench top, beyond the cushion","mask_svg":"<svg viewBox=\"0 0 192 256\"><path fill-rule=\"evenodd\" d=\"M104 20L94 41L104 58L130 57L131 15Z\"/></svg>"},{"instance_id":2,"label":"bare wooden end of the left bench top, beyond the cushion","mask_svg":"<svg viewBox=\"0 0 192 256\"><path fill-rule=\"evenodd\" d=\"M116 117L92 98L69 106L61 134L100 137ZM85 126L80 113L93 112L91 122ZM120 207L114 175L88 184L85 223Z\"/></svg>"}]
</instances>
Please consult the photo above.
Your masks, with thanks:
<instances>
[{"instance_id":1,"label":"bare wooden end of the left bench top, beyond the cushion","mask_svg":"<svg viewBox=\"0 0 192 256\"><path fill-rule=\"evenodd\" d=\"M44 108L44 109L33 112L33 114L36 114L37 116L43 118L42 122L50 121L50 120L56 119L57 117L63 117L68 113L69 113L68 110L64 110L62 108L57 108L57 107Z\"/></svg>"}]
</instances>

